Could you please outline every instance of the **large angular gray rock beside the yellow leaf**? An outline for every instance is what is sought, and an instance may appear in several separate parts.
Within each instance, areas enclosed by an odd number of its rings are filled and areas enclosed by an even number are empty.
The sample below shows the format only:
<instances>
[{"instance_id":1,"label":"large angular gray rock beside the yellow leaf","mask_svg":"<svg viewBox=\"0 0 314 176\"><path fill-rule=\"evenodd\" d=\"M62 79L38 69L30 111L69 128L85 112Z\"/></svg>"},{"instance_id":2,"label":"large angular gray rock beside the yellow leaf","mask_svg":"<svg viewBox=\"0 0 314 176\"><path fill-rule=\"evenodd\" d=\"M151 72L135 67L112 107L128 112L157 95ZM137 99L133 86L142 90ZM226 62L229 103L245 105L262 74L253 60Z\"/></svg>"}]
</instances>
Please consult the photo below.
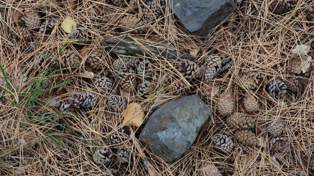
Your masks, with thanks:
<instances>
[{"instance_id":1,"label":"large angular gray rock beside the yellow leaf","mask_svg":"<svg viewBox=\"0 0 314 176\"><path fill-rule=\"evenodd\" d=\"M209 115L209 107L197 95L183 96L152 114L139 141L171 162L191 147Z\"/></svg>"}]
</instances>

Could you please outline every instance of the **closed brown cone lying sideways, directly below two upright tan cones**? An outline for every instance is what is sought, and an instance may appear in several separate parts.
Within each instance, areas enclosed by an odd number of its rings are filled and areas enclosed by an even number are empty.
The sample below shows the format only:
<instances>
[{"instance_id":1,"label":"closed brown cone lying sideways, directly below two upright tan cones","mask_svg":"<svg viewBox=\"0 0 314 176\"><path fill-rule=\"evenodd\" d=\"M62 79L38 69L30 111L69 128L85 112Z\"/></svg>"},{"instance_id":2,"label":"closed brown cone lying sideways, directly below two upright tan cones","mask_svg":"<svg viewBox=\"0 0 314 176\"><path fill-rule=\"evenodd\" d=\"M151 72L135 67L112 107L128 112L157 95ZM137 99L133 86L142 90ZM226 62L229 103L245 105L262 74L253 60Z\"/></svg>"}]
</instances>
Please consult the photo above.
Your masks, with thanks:
<instances>
[{"instance_id":1,"label":"closed brown cone lying sideways, directly below two upright tan cones","mask_svg":"<svg viewBox=\"0 0 314 176\"><path fill-rule=\"evenodd\" d=\"M253 128L254 119L242 112L235 112L227 117L227 125L235 130Z\"/></svg>"}]
</instances>

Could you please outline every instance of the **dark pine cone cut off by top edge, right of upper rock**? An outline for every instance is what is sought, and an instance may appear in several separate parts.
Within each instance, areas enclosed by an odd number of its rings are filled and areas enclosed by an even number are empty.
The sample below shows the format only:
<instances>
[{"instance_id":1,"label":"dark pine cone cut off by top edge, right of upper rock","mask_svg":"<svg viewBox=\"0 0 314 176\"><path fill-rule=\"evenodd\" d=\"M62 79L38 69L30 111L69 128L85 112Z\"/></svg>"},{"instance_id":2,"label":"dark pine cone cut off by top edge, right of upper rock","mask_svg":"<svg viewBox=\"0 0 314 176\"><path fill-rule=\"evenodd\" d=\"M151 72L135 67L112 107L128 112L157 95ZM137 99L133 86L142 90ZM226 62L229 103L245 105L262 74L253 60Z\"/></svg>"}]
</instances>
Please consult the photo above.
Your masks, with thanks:
<instances>
[{"instance_id":1,"label":"dark pine cone cut off by top edge, right of upper rock","mask_svg":"<svg viewBox=\"0 0 314 176\"><path fill-rule=\"evenodd\" d=\"M275 0L270 4L270 9L274 14L284 14L296 6L297 0Z\"/></svg>"}]
</instances>

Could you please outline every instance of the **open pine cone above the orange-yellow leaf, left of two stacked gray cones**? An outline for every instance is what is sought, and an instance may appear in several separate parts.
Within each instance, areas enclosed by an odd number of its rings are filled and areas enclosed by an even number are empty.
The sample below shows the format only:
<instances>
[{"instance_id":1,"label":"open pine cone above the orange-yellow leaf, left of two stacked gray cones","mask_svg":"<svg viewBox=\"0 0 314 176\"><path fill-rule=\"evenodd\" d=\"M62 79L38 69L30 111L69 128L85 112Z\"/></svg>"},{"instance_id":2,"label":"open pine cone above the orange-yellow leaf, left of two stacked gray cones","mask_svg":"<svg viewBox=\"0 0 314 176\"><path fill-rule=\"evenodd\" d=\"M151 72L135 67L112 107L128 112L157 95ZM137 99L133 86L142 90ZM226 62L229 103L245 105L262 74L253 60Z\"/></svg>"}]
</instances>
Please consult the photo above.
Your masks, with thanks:
<instances>
[{"instance_id":1,"label":"open pine cone above the orange-yellow leaf, left of two stacked gray cones","mask_svg":"<svg viewBox=\"0 0 314 176\"><path fill-rule=\"evenodd\" d=\"M125 91L130 91L132 88L137 87L137 81L136 77L134 76L133 69L129 69L128 73L121 73L121 75L119 75L119 78L119 86L121 87L121 89Z\"/></svg>"}]
</instances>

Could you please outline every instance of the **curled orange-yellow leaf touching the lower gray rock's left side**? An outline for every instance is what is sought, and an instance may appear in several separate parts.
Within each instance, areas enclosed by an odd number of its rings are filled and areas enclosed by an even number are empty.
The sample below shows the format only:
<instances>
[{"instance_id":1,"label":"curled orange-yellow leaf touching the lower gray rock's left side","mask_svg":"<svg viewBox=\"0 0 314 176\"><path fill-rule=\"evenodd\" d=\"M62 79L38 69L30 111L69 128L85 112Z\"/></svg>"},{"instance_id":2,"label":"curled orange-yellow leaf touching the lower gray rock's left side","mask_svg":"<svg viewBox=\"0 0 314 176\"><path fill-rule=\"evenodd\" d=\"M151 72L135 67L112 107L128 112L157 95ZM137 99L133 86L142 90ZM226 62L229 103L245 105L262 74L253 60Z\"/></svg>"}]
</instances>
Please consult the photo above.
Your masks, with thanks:
<instances>
[{"instance_id":1,"label":"curled orange-yellow leaf touching the lower gray rock's left side","mask_svg":"<svg viewBox=\"0 0 314 176\"><path fill-rule=\"evenodd\" d=\"M141 111L141 105L138 103L129 104L128 108L123 111L123 124L139 127L142 125L145 114Z\"/></svg>"}]
</instances>

